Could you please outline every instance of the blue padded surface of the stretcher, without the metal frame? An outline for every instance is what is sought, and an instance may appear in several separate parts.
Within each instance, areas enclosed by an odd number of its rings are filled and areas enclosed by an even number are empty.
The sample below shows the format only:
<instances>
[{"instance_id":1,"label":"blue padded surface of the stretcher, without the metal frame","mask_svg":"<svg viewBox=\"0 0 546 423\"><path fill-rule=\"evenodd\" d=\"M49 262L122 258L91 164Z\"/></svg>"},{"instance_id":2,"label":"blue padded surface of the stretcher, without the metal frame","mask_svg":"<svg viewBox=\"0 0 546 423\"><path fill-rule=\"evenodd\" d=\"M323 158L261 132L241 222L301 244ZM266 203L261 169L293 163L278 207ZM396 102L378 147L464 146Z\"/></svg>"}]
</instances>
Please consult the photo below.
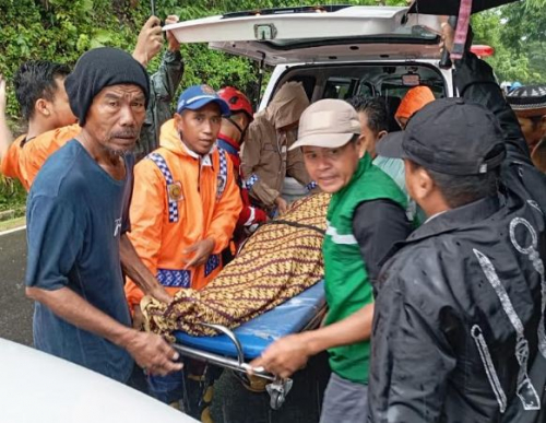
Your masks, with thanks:
<instances>
[{"instance_id":1,"label":"blue padded surface of the stretcher, without the metal frame","mask_svg":"<svg viewBox=\"0 0 546 423\"><path fill-rule=\"evenodd\" d=\"M256 359L278 338L301 331L324 305L324 282L320 281L286 303L234 329L242 345L245 359ZM237 357L237 350L225 334L190 337L185 332L176 332L175 337L183 345Z\"/></svg>"}]
</instances>

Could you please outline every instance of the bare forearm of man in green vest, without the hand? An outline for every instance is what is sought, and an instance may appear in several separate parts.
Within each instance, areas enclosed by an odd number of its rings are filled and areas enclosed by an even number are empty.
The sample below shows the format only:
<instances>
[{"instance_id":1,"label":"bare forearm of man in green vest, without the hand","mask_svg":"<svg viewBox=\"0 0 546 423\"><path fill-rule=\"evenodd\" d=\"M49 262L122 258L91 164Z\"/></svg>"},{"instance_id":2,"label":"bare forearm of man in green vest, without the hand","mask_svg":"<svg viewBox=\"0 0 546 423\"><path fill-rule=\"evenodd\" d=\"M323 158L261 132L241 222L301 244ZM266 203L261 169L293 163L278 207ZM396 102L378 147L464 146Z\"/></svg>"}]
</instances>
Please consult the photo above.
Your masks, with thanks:
<instances>
[{"instance_id":1,"label":"bare forearm of man in green vest, without the hand","mask_svg":"<svg viewBox=\"0 0 546 423\"><path fill-rule=\"evenodd\" d=\"M369 340L372 320L373 304L368 304L341 321L302 332L301 337L308 345L309 355L316 355L335 346Z\"/></svg>"}]
</instances>

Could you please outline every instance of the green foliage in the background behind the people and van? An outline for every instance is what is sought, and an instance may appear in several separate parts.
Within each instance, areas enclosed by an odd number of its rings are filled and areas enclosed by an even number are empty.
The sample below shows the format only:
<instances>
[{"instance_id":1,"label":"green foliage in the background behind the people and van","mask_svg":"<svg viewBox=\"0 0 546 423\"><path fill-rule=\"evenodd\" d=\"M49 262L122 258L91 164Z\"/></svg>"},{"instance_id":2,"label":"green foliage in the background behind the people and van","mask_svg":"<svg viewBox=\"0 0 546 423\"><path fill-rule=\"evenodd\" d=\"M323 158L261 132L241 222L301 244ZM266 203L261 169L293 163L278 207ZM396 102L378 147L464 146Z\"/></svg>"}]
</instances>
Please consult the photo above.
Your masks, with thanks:
<instances>
[{"instance_id":1,"label":"green foliage in the background behind the people and van","mask_svg":"<svg viewBox=\"0 0 546 423\"><path fill-rule=\"evenodd\" d=\"M155 0L157 14L177 14L182 21L257 8L336 3L317 0ZM405 5L405 0L343 0L358 5ZM74 64L86 50L114 46L132 51L141 26L150 16L149 0L0 0L0 73L11 81L29 59ZM546 72L546 0L527 0L473 21L476 42L497 49L489 59L500 80L544 81ZM524 37L524 38L522 38ZM182 87L206 81L218 89L236 85L256 98L257 63L211 51L205 45L182 46L186 72ZM159 55L161 56L161 55ZM161 57L149 64L154 72ZM268 75L266 75L268 78ZM265 80L266 80L265 78ZM263 87L262 87L263 89ZM9 120L15 132L21 122L9 86ZM0 210L24 201L19 185L0 179Z\"/></svg>"}]
</instances>

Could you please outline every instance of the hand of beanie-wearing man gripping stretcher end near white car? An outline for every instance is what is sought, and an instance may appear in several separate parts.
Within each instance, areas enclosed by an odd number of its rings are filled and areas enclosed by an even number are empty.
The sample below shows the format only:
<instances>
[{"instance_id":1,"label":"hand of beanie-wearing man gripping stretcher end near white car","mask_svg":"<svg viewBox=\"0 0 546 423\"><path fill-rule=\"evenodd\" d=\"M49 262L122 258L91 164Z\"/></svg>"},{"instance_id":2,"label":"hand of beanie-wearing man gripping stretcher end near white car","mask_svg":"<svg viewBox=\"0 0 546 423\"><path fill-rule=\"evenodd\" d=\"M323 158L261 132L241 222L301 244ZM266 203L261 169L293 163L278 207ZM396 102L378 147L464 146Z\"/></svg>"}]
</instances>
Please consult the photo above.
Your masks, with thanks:
<instances>
[{"instance_id":1,"label":"hand of beanie-wearing man gripping stretcher end near white car","mask_svg":"<svg viewBox=\"0 0 546 423\"><path fill-rule=\"evenodd\" d=\"M182 369L182 363L177 363L179 354L158 334L132 330L123 346L152 375L165 376Z\"/></svg>"}]
</instances>

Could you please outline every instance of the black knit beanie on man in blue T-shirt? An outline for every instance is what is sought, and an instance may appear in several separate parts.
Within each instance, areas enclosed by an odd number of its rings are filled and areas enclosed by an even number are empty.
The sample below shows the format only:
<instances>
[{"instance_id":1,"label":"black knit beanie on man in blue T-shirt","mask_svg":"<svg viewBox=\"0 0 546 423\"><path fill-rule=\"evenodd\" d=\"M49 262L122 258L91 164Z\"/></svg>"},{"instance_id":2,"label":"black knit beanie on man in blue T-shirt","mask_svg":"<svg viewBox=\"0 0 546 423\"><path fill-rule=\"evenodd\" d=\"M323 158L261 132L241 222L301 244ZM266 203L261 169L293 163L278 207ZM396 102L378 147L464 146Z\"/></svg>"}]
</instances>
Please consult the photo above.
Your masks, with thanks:
<instances>
[{"instance_id":1,"label":"black knit beanie on man in blue T-shirt","mask_svg":"<svg viewBox=\"0 0 546 423\"><path fill-rule=\"evenodd\" d=\"M127 51L111 47L95 48L85 52L67 77L64 87L72 113L85 125L93 98L106 86L134 84L150 99L150 79L144 67Z\"/></svg>"}]
</instances>

